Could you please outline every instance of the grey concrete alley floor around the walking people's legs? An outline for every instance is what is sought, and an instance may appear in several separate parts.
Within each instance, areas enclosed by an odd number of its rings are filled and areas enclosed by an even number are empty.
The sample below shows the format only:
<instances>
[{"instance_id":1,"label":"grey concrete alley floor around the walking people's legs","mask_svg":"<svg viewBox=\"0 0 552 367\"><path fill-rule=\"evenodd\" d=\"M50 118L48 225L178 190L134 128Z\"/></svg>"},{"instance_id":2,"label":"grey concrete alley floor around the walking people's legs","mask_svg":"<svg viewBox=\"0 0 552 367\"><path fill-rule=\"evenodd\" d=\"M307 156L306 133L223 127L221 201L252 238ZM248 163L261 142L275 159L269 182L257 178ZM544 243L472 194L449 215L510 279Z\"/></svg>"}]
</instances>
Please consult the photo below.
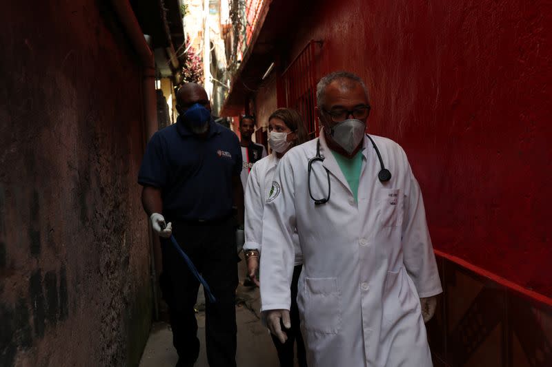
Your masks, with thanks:
<instances>
[{"instance_id":1,"label":"grey concrete alley floor around the walking people's legs","mask_svg":"<svg viewBox=\"0 0 552 367\"><path fill-rule=\"evenodd\" d=\"M237 352L238 367L277 367L278 358L268 330L260 321L259 289L244 287L245 262L239 262L239 285L236 293ZM208 367L205 349L205 312L203 290L199 290L197 300L197 326L201 350L195 367ZM172 332L166 322L152 325L150 337L139 367L172 367L178 355L172 346Z\"/></svg>"}]
</instances>

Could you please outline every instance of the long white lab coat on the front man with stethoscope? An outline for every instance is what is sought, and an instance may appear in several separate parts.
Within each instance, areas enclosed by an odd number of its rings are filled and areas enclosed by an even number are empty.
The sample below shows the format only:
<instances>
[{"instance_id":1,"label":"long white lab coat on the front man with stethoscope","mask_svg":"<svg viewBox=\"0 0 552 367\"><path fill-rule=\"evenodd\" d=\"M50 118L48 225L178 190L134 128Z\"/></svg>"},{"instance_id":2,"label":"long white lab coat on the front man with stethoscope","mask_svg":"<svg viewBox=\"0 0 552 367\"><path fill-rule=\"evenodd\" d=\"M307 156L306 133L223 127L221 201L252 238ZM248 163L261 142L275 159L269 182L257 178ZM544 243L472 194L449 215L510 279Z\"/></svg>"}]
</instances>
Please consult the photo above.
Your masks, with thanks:
<instances>
[{"instance_id":1,"label":"long white lab coat on the front man with stethoscope","mask_svg":"<svg viewBox=\"0 0 552 367\"><path fill-rule=\"evenodd\" d=\"M289 309L292 234L303 253L297 303L309 367L432 366L419 297L442 292L420 187L402 148L373 136L393 177L364 137L358 203L321 134L311 189L308 160L316 139L288 151L264 207L260 265L262 311ZM324 165L324 167L322 167Z\"/></svg>"}]
</instances>

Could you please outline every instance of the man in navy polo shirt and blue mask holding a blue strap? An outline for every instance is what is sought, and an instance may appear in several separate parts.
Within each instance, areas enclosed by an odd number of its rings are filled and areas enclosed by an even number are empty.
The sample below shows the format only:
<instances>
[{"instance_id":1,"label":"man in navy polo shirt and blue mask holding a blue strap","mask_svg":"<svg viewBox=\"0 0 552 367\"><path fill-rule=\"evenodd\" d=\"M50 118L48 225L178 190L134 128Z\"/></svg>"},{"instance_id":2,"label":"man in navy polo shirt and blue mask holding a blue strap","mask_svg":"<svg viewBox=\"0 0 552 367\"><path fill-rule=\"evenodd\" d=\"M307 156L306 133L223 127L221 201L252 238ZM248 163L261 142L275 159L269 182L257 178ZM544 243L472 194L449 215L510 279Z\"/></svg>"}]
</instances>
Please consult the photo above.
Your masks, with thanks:
<instances>
[{"instance_id":1,"label":"man in navy polo shirt and blue mask holding a blue strap","mask_svg":"<svg viewBox=\"0 0 552 367\"><path fill-rule=\"evenodd\" d=\"M215 123L203 87L186 83L177 93L177 123L156 132L146 148L138 182L152 229L161 237L166 300L177 366L199 355L194 305L199 283L168 238L174 235L209 284L206 346L210 366L236 366L237 256L233 205L243 223L244 193L237 136Z\"/></svg>"}]
</instances>

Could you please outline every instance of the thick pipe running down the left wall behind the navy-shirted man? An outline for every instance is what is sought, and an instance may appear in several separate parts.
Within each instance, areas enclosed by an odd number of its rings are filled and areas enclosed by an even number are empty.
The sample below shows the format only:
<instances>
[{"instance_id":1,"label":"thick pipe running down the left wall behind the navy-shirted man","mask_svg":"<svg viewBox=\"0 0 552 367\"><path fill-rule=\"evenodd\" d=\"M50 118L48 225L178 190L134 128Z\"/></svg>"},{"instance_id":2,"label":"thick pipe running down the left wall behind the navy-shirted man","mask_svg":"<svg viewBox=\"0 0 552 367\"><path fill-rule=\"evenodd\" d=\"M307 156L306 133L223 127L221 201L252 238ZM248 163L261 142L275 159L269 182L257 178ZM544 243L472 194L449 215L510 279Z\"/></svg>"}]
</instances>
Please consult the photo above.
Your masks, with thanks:
<instances>
[{"instance_id":1,"label":"thick pipe running down the left wall behind the navy-shirted man","mask_svg":"<svg viewBox=\"0 0 552 367\"><path fill-rule=\"evenodd\" d=\"M142 65L142 88L141 92L144 97L144 150L146 144L150 138L157 132L159 125L157 123L157 96L155 94L155 59L153 53L146 41L146 36L141 30L141 27L136 19L134 10L130 6L128 0L112 0L113 10L121 25L123 27L126 36L132 44L135 52L139 56L139 60ZM149 224L148 218L148 224ZM159 244L159 238L153 235L151 226L148 225L149 238L150 238L150 253L152 261L151 264L151 276L152 276L152 293L153 302L155 308L155 319L159 318L159 305L157 303L157 271L161 269L161 247Z\"/></svg>"}]
</instances>

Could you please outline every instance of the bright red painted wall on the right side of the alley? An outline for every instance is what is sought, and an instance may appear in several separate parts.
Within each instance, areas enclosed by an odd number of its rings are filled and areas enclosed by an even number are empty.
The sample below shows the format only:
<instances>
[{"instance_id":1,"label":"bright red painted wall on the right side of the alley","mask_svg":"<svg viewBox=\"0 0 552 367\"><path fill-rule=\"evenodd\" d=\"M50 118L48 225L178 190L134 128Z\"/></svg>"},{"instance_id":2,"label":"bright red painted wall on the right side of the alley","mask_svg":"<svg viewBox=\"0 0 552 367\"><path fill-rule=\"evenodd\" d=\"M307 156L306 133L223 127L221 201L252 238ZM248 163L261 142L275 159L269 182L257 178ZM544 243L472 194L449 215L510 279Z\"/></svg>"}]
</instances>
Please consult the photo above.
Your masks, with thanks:
<instances>
[{"instance_id":1,"label":"bright red painted wall on the right side of the alley","mask_svg":"<svg viewBox=\"0 0 552 367\"><path fill-rule=\"evenodd\" d=\"M362 76L368 131L400 143L434 246L552 296L551 1L319 1L293 59Z\"/></svg>"}]
</instances>

